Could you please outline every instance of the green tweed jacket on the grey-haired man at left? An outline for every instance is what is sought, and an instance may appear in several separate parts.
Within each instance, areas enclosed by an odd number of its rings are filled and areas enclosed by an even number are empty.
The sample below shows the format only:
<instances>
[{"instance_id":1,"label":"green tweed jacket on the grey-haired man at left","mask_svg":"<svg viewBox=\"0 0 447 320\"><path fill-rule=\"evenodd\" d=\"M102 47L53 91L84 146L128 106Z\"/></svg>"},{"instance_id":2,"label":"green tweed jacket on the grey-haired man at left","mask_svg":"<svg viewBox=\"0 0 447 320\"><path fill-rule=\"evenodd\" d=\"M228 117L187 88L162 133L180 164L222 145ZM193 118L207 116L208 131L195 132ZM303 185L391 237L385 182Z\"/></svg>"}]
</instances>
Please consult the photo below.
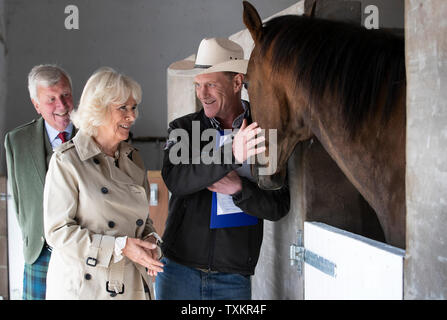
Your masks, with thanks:
<instances>
[{"instance_id":1,"label":"green tweed jacket on the grey-haired man at left","mask_svg":"<svg viewBox=\"0 0 447 320\"><path fill-rule=\"evenodd\" d=\"M73 134L75 133L73 129ZM51 144L42 117L6 134L8 182L16 207L27 264L39 257L45 244L43 231L43 188L47 172L47 151Z\"/></svg>"}]
</instances>

